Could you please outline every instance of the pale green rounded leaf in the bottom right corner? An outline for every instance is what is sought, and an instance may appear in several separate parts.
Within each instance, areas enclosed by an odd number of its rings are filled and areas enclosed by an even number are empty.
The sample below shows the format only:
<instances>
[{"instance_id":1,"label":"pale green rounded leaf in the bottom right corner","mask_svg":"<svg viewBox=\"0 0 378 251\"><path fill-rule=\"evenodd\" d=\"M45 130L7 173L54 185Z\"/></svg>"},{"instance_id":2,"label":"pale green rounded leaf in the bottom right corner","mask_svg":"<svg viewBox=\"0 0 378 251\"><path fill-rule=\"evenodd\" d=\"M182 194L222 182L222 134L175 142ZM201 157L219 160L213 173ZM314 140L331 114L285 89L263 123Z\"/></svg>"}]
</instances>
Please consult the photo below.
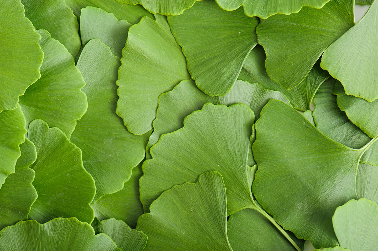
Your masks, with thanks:
<instances>
[{"instance_id":1,"label":"pale green rounded leaf in the bottom right corner","mask_svg":"<svg viewBox=\"0 0 378 251\"><path fill-rule=\"evenodd\" d=\"M340 246L351 251L375 251L378 246L378 206L367 200L350 200L332 217Z\"/></svg>"}]
</instances>

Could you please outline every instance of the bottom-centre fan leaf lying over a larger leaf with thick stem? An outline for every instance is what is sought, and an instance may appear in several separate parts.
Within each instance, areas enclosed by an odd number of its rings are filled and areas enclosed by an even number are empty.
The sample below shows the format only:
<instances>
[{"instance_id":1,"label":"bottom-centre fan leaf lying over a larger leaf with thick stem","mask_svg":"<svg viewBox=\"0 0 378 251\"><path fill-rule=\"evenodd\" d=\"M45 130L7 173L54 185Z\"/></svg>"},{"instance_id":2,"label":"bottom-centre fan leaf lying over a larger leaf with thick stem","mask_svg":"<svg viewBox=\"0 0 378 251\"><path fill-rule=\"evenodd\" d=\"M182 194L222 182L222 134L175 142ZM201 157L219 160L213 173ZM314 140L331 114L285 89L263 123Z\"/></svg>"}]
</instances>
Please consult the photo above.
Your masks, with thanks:
<instances>
[{"instance_id":1,"label":"bottom-centre fan leaf lying over a larger leaf with thick stem","mask_svg":"<svg viewBox=\"0 0 378 251\"><path fill-rule=\"evenodd\" d=\"M226 232L225 185L218 172L206 172L195 183L170 188L150 209L136 226L148 236L145 251L232 251Z\"/></svg>"}]
</instances>

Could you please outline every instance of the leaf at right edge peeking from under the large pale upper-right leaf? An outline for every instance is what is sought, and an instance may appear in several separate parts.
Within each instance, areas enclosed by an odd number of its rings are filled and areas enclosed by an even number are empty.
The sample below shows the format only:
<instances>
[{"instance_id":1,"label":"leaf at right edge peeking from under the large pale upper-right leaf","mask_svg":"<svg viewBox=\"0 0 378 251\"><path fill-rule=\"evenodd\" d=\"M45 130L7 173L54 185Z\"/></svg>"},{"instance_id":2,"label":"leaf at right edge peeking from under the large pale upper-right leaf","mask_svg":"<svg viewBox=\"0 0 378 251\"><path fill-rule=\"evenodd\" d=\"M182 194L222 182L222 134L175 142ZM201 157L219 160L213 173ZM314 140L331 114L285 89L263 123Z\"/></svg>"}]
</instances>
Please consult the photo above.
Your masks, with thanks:
<instances>
[{"instance_id":1,"label":"leaf at right edge peeking from under the large pale upper-right leaf","mask_svg":"<svg viewBox=\"0 0 378 251\"><path fill-rule=\"evenodd\" d=\"M378 86L378 83L377 83ZM378 100L368 102L364 99L347 95L339 81L336 81L334 94L337 94L339 108L347 114L350 121L361 128L369 137L378 136ZM367 116L367 114L369 114Z\"/></svg>"}]
</instances>

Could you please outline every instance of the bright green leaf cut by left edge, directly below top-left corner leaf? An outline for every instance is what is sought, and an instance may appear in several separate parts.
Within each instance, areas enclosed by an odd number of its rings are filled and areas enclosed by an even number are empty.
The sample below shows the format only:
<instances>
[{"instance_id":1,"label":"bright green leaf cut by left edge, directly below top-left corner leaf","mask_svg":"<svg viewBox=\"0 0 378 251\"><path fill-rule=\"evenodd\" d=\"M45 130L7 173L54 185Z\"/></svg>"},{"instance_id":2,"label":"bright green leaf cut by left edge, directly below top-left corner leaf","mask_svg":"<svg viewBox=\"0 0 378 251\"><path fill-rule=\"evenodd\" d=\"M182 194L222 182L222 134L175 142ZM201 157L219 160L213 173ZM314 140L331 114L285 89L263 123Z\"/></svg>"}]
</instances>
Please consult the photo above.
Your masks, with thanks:
<instances>
[{"instance_id":1,"label":"bright green leaf cut by left edge, directly below top-left corner leaf","mask_svg":"<svg viewBox=\"0 0 378 251\"><path fill-rule=\"evenodd\" d=\"M25 117L19 105L14 110L0 112L0 188L6 177L15 171L25 133Z\"/></svg>"}]
</instances>

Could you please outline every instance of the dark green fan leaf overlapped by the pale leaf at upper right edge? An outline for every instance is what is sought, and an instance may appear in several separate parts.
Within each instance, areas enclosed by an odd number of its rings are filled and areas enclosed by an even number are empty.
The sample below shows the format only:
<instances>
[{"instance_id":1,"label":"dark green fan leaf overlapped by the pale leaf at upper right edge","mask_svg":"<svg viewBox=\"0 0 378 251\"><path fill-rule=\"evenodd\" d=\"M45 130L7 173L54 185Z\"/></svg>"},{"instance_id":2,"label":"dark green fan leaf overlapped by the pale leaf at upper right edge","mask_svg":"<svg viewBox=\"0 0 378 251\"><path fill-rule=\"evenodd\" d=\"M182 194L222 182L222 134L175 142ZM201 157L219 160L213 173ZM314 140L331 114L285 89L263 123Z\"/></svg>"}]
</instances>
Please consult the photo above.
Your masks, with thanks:
<instances>
[{"instance_id":1,"label":"dark green fan leaf overlapped by the pale leaf at upper right edge","mask_svg":"<svg viewBox=\"0 0 378 251\"><path fill-rule=\"evenodd\" d=\"M287 89L299 85L324 50L354 25L353 9L353 0L332 0L322 9L261 20L256 32L269 77Z\"/></svg>"}]
</instances>

